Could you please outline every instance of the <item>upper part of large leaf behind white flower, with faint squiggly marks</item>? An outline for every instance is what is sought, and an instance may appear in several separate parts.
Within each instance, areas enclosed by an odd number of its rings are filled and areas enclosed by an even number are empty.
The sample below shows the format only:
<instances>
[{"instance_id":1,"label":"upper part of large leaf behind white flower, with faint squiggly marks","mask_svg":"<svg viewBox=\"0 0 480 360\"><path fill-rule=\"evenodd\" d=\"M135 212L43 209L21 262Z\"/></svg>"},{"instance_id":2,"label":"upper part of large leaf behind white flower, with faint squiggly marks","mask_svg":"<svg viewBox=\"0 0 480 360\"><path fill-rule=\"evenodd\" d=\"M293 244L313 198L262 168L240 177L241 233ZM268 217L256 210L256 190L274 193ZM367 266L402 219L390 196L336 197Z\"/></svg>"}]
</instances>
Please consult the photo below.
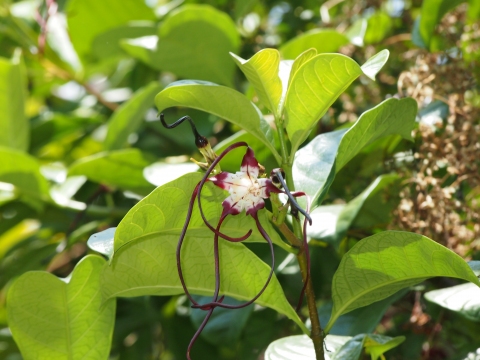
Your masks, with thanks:
<instances>
[{"instance_id":1,"label":"upper part of large leaf behind white flower, with faint squiggly marks","mask_svg":"<svg viewBox=\"0 0 480 360\"><path fill-rule=\"evenodd\" d=\"M162 237L165 234L175 234L178 238L185 223L190 196L201 179L202 174L200 173L187 174L156 188L136 204L117 227L115 252L125 244L138 241L138 239L147 235ZM212 224L215 224L220 218L223 209L221 204L228 196L227 194L211 183L204 187L202 209L207 220ZM265 211L259 212L259 219L272 241L281 247L285 247L285 243L268 221ZM253 230L249 241L265 243L264 238L256 229L253 219L244 213L227 217L222 225L222 232L233 237L244 235L248 229ZM189 232L203 236L213 235L204 225L196 206L190 220Z\"/></svg>"}]
</instances>

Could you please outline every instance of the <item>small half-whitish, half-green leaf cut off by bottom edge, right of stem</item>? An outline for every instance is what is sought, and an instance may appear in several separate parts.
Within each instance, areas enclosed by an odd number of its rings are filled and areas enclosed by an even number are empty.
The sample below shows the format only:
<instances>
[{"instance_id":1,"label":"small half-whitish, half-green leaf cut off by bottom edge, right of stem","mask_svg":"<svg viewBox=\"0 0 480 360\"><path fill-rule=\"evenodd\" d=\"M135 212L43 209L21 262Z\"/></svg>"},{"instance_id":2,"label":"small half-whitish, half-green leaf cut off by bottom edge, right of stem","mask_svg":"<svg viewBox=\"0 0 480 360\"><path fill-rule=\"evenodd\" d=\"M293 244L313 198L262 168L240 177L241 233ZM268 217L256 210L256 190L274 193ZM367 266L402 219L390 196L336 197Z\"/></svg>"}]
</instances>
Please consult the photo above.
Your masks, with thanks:
<instances>
[{"instance_id":1,"label":"small half-whitish, half-green leaf cut off by bottom edge, right of stem","mask_svg":"<svg viewBox=\"0 0 480 360\"><path fill-rule=\"evenodd\" d=\"M332 360L358 360L365 347L365 352L377 360L394 347L405 341L405 336L391 338L377 334L360 334L347 341L333 356Z\"/></svg>"}]
</instances>

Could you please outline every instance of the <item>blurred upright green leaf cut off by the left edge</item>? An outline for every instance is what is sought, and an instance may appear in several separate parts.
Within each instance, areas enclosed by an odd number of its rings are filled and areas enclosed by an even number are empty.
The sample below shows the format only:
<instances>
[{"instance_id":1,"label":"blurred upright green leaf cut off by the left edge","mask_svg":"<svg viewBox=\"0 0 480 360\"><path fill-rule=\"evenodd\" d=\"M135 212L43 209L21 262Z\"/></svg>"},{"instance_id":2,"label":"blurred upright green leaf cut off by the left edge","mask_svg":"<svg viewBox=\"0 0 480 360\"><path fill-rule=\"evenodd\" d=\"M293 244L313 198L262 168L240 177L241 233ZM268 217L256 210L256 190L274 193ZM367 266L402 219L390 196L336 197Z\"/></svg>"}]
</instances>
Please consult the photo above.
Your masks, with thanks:
<instances>
[{"instance_id":1,"label":"blurred upright green leaf cut off by the left edge","mask_svg":"<svg viewBox=\"0 0 480 360\"><path fill-rule=\"evenodd\" d=\"M19 52L0 58L0 146L27 150L29 122L25 116L27 77ZM0 170L1 171L1 170Z\"/></svg>"}]
</instances>

